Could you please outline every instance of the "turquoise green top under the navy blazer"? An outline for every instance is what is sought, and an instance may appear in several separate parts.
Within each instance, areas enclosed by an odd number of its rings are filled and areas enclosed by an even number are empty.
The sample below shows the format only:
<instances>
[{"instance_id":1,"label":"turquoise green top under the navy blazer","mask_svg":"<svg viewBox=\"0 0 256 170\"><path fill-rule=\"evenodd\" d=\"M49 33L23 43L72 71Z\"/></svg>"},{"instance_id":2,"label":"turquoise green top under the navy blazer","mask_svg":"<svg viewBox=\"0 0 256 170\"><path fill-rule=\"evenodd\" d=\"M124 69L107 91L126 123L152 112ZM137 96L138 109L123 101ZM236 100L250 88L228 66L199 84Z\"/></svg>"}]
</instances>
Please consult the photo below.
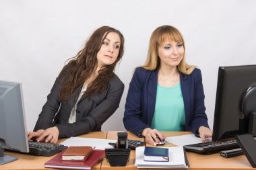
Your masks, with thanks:
<instances>
[{"instance_id":1,"label":"turquoise green top under the navy blazer","mask_svg":"<svg viewBox=\"0 0 256 170\"><path fill-rule=\"evenodd\" d=\"M151 128L159 131L184 131L185 108L181 83L156 89L156 106Z\"/></svg>"}]
</instances>

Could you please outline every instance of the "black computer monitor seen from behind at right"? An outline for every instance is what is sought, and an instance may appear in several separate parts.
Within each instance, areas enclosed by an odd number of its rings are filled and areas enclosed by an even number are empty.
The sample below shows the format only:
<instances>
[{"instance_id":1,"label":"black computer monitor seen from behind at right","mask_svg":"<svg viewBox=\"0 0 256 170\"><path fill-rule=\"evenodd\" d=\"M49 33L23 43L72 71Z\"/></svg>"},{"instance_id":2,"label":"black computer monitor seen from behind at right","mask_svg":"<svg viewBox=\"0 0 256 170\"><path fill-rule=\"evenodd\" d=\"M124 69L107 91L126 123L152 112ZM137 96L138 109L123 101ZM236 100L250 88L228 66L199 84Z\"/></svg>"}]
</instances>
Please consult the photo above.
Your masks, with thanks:
<instances>
[{"instance_id":1,"label":"black computer monitor seen from behind at right","mask_svg":"<svg viewBox=\"0 0 256 170\"><path fill-rule=\"evenodd\" d=\"M256 135L256 65L219 67L212 140Z\"/></svg>"}]
</instances>

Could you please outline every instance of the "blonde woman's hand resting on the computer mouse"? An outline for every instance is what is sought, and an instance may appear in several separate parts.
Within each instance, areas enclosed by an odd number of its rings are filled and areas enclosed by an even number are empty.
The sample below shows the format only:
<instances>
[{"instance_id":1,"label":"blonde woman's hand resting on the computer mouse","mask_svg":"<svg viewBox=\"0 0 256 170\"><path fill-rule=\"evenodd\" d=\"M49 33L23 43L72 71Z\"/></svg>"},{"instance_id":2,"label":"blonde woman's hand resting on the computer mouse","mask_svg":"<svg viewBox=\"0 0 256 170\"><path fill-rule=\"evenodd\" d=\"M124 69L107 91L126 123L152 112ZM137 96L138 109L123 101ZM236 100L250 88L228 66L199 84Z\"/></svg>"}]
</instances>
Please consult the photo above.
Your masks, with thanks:
<instances>
[{"instance_id":1,"label":"blonde woman's hand resting on the computer mouse","mask_svg":"<svg viewBox=\"0 0 256 170\"><path fill-rule=\"evenodd\" d=\"M142 136L145 136L145 140L147 143L154 146L156 146L157 143L160 143L160 140L165 140L165 136L156 129L145 128L141 134ZM160 140L157 136L160 138Z\"/></svg>"}]
</instances>

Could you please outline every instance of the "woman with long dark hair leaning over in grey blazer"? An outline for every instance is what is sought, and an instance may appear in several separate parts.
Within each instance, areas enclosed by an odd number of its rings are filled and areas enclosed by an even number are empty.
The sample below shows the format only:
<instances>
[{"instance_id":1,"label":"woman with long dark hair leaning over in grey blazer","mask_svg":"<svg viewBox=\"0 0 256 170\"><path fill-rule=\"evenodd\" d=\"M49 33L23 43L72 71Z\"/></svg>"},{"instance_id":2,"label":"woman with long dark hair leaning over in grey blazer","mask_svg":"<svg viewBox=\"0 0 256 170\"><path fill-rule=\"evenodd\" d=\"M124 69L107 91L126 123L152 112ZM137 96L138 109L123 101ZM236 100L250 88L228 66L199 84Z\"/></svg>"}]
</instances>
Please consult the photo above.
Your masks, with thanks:
<instances>
[{"instance_id":1,"label":"woman with long dark hair leaning over in grey blazer","mask_svg":"<svg viewBox=\"0 0 256 170\"><path fill-rule=\"evenodd\" d=\"M28 139L56 143L58 138L100 131L123 94L124 84L114 73L123 50L119 30L98 28L61 70Z\"/></svg>"}]
</instances>

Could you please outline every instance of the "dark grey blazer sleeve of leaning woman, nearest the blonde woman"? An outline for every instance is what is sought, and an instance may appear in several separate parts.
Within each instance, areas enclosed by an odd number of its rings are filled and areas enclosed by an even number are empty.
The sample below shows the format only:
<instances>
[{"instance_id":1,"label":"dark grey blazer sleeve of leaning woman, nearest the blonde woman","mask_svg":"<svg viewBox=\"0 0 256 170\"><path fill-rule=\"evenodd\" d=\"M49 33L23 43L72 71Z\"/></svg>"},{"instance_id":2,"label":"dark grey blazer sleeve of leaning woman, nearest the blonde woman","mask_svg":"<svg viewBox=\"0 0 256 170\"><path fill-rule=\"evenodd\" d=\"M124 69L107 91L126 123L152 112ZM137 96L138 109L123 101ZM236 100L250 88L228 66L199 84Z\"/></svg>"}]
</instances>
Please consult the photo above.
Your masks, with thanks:
<instances>
[{"instance_id":1,"label":"dark grey blazer sleeve of leaning woman, nearest the blonde woman","mask_svg":"<svg viewBox=\"0 0 256 170\"><path fill-rule=\"evenodd\" d=\"M124 87L125 85L120 80L119 83L113 83L108 88L106 98L87 116L73 124L56 124L55 126L59 129L59 138L86 134L100 128L119 108Z\"/></svg>"}]
</instances>

